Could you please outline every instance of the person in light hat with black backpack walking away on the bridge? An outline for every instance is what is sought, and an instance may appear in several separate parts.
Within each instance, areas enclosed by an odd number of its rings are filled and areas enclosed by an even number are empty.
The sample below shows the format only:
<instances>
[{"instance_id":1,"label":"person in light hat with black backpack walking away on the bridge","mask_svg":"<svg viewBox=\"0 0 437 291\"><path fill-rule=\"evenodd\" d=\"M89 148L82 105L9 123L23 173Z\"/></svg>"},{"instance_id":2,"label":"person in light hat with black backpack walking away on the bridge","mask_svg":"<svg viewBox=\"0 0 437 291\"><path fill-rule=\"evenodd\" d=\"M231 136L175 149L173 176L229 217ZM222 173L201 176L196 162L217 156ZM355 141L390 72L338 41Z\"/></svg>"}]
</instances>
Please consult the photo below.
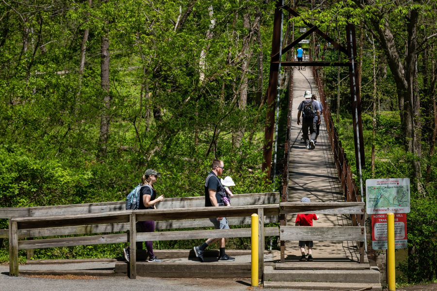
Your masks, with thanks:
<instances>
[{"instance_id":1,"label":"person in light hat with black backpack walking away on the bridge","mask_svg":"<svg viewBox=\"0 0 437 291\"><path fill-rule=\"evenodd\" d=\"M305 97L305 100L299 104L298 107L298 125L301 124L301 114L303 112L302 117L302 133L303 133L303 140L305 141L305 148L309 149L310 147L314 149L316 147L316 130L317 126L316 124L320 123L320 111L319 111L319 105L316 101L311 100L311 92L305 91L303 94L303 97ZM311 134L311 139L308 139L308 128Z\"/></svg>"}]
</instances>

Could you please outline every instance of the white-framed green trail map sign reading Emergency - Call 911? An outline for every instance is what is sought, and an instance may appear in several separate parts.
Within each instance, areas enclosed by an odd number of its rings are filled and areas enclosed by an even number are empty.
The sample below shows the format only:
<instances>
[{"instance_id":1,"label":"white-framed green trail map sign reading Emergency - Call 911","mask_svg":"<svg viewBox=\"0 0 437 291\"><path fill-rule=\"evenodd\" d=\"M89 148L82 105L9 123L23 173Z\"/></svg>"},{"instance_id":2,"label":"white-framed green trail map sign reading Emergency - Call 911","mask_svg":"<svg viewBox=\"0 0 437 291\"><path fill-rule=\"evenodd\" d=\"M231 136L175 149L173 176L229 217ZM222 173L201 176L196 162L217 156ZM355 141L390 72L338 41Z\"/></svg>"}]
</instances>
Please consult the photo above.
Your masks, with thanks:
<instances>
[{"instance_id":1,"label":"white-framed green trail map sign reading Emergency - Call 911","mask_svg":"<svg viewBox=\"0 0 437 291\"><path fill-rule=\"evenodd\" d=\"M409 213L410 179L367 179L366 212L367 214Z\"/></svg>"}]
</instances>

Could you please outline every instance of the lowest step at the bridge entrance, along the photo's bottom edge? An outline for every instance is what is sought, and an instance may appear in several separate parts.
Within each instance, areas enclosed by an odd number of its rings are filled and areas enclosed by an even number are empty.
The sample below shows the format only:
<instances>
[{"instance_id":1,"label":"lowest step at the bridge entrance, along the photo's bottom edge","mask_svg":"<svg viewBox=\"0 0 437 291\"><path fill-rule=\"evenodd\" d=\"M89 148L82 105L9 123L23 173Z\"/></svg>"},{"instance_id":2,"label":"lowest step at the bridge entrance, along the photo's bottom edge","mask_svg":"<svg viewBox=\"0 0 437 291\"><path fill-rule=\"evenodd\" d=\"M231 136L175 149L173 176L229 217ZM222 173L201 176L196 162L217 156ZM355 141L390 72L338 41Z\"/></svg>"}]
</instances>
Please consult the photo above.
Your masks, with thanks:
<instances>
[{"instance_id":1,"label":"lowest step at the bridge entrance, along the photo's bottom edge","mask_svg":"<svg viewBox=\"0 0 437 291\"><path fill-rule=\"evenodd\" d=\"M264 289L288 289L292 290L363 290L370 288L371 291L381 291L379 283L339 283L339 282L271 282L264 281ZM369 289L368 289L369 290Z\"/></svg>"}]
</instances>

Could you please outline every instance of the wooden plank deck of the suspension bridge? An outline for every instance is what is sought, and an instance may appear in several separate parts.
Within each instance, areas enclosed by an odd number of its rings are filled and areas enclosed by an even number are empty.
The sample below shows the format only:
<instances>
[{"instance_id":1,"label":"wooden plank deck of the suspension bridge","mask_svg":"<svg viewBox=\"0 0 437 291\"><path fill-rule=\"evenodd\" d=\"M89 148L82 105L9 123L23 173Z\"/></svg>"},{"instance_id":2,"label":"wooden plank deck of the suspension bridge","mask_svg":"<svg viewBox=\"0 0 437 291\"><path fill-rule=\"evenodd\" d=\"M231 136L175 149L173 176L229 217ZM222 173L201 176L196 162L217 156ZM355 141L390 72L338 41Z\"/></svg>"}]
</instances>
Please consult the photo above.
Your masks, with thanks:
<instances>
[{"instance_id":1,"label":"wooden plank deck of the suspension bridge","mask_svg":"<svg viewBox=\"0 0 437 291\"><path fill-rule=\"evenodd\" d=\"M323 118L316 148L307 150L304 143L301 143L302 127L297 125L297 108L304 100L303 93L305 90L311 91L311 87L313 94L316 94L319 100L317 85L310 67L306 67L306 70L294 68L288 202L300 202L305 196L311 202L343 202L344 196L337 179L336 166ZM296 215L288 215L287 225L294 226L295 219ZM352 226L352 224L348 215L322 214L320 219L314 222L314 226ZM286 242L285 256L286 260L300 259L298 242ZM355 242L314 242L313 257L315 261L321 259L359 261L359 248ZM368 262L367 256L365 262Z\"/></svg>"}]
</instances>

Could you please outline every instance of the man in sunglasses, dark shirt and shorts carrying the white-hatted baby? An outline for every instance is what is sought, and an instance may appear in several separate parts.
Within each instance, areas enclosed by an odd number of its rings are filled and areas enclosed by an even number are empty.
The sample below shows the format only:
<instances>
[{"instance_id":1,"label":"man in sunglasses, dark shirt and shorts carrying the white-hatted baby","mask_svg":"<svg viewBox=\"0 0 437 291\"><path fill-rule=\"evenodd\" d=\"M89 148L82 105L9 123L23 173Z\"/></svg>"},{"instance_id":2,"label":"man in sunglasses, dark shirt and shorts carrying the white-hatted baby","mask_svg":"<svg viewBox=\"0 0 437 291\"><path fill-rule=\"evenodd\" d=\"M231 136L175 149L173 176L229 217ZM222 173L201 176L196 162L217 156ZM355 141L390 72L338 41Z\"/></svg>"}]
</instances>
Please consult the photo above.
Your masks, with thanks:
<instances>
[{"instance_id":1,"label":"man in sunglasses, dark shirt and shorts carrying the white-hatted baby","mask_svg":"<svg viewBox=\"0 0 437 291\"><path fill-rule=\"evenodd\" d=\"M219 207L224 206L223 195L221 194L223 186L218 176L221 176L224 171L224 163L221 160L214 160L212 163L212 171L209 172L205 180L205 207ZM216 229L229 229L228 220L226 217L210 218L209 219ZM220 254L218 261L233 261L235 258L229 257L225 253L225 238L207 239L202 245L194 247L196 257L203 262L203 251L211 243L218 242Z\"/></svg>"}]
</instances>

